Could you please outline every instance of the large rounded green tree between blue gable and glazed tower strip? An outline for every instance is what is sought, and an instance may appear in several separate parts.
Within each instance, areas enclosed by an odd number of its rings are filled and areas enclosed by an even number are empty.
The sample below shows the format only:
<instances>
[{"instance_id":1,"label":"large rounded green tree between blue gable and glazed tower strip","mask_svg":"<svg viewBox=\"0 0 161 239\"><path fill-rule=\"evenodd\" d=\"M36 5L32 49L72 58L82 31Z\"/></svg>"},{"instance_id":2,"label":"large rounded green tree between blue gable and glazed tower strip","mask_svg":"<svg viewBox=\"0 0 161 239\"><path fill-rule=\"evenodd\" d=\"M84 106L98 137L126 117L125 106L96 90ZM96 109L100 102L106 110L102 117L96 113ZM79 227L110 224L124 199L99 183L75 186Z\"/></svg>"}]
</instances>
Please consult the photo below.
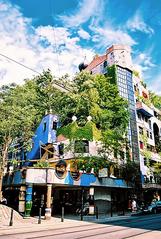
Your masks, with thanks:
<instances>
[{"instance_id":1,"label":"large rounded green tree between blue gable and glazed tower strip","mask_svg":"<svg viewBox=\"0 0 161 239\"><path fill-rule=\"evenodd\" d=\"M92 123L101 132L100 141L103 152L100 154L106 162L108 154L114 149L119 150L124 147L123 143L126 141L125 135L129 122L128 103L119 95L117 86L110 82L111 76L81 72L73 80L72 92L66 94L60 102L60 115L65 136L71 141L81 140L80 130L83 132L87 117L90 115ZM72 136L71 130L67 129L72 125L73 115L76 115L80 129L76 127ZM63 130L59 133L63 133ZM88 139L87 135L81 135L84 136L84 139ZM90 140L93 139L94 137ZM90 162L91 167L92 165L94 167L94 160Z\"/></svg>"}]
</instances>

